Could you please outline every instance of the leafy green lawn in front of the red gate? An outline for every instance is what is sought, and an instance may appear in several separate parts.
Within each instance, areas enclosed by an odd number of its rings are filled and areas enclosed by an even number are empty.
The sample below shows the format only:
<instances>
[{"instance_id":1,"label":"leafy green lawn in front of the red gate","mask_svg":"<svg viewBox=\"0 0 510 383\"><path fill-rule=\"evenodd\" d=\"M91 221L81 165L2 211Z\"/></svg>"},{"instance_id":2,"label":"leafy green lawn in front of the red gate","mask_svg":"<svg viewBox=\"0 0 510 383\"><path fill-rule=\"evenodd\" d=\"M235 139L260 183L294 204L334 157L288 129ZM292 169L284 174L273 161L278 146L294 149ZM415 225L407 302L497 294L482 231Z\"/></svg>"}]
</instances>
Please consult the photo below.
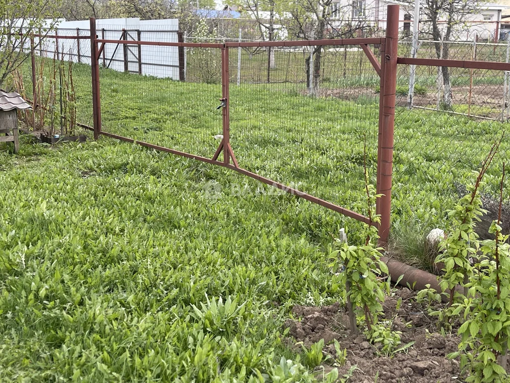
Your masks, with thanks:
<instances>
[{"instance_id":1,"label":"leafy green lawn in front of the red gate","mask_svg":"<svg viewBox=\"0 0 510 383\"><path fill-rule=\"evenodd\" d=\"M258 186L105 138L0 152L0 381L311 381L282 324L341 297L342 220L213 180Z\"/></svg>"}]
</instances>

